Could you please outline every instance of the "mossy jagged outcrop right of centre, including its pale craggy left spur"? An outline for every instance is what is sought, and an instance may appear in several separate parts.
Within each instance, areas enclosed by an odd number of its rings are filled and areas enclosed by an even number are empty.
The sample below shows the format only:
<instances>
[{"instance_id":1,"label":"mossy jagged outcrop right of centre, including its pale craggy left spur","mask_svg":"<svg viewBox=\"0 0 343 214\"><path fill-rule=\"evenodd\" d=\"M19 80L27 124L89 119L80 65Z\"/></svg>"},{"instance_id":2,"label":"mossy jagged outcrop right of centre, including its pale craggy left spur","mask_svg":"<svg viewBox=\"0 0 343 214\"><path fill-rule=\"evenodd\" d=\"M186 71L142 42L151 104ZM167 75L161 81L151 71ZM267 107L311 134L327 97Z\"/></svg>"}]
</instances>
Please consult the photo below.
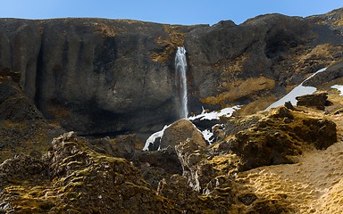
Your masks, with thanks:
<instances>
[{"instance_id":1,"label":"mossy jagged outcrop right of centre, including its pale craggy left spur","mask_svg":"<svg viewBox=\"0 0 343 214\"><path fill-rule=\"evenodd\" d=\"M337 142L334 122L309 117L301 109L280 107L236 119L236 126L233 120L228 119L228 128L223 129L227 130L225 137L210 147L192 147L189 141L175 146L183 176L196 191L207 193L214 177L235 177L238 171L293 163L292 156L301 154L309 144L326 149Z\"/></svg>"}]
</instances>

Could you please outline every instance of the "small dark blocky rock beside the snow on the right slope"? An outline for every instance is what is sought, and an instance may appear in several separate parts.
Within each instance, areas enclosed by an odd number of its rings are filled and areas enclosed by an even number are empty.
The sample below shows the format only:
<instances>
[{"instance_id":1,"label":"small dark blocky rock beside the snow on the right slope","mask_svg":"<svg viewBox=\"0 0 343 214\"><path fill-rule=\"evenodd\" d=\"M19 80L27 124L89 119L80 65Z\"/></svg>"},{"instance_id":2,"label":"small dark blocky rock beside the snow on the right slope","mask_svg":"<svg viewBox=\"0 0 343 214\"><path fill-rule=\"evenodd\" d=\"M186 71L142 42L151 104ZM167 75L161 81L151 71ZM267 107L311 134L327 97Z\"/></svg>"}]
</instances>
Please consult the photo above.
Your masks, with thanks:
<instances>
[{"instance_id":1,"label":"small dark blocky rock beside the snow on the right slope","mask_svg":"<svg viewBox=\"0 0 343 214\"><path fill-rule=\"evenodd\" d=\"M306 106L324 111L325 106L327 105L328 94L319 93L314 95L302 95L297 96L296 99L297 105L299 106Z\"/></svg>"}]
</instances>

